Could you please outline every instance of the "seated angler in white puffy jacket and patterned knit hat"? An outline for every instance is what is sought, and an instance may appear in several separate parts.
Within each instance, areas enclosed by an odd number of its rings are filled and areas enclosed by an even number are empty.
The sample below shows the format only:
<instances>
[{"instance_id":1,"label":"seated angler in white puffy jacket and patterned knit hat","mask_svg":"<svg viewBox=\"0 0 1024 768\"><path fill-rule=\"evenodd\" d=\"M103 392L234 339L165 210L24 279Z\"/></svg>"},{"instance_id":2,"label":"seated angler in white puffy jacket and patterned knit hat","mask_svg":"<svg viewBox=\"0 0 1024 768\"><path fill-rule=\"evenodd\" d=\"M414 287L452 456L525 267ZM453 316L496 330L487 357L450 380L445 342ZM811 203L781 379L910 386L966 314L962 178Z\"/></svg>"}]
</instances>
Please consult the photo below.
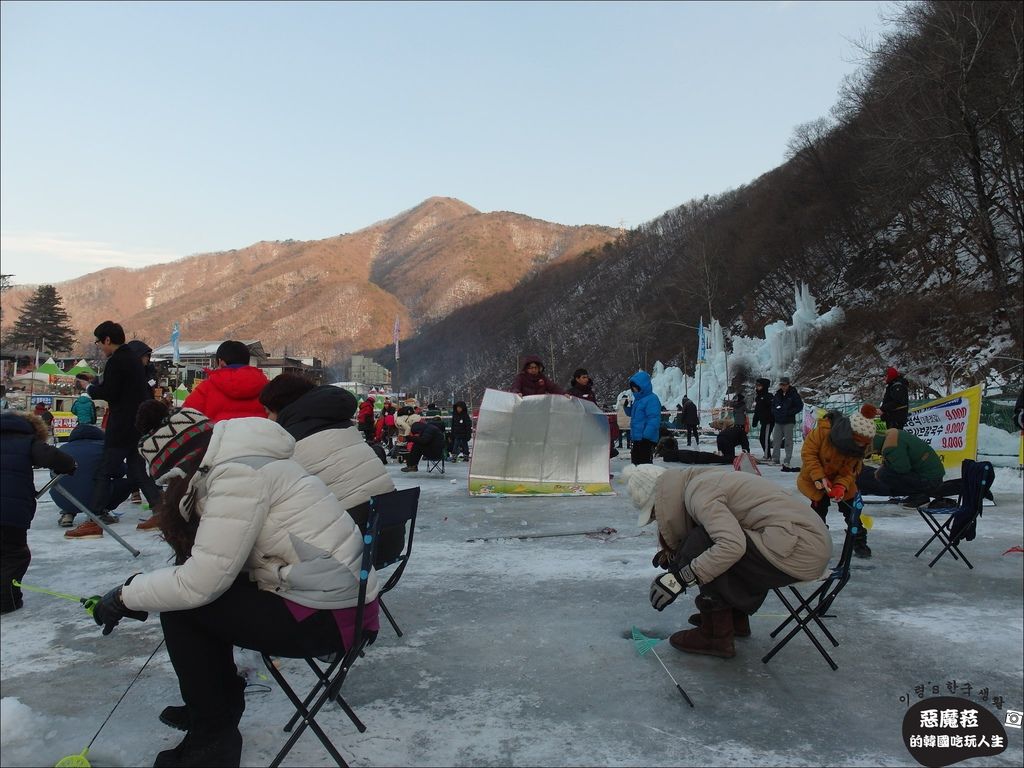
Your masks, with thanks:
<instances>
[{"instance_id":1,"label":"seated angler in white puffy jacket and patterned knit hat","mask_svg":"<svg viewBox=\"0 0 1024 768\"><path fill-rule=\"evenodd\" d=\"M362 538L323 480L292 459L295 439L261 418L218 422L150 400L139 452L166 481L157 514L175 564L108 592L93 617L109 634L160 611L184 708L161 720L187 729L154 765L238 766L244 684L233 647L315 656L352 641ZM364 628L379 629L371 570ZM171 717L167 717L170 713Z\"/></svg>"}]
</instances>

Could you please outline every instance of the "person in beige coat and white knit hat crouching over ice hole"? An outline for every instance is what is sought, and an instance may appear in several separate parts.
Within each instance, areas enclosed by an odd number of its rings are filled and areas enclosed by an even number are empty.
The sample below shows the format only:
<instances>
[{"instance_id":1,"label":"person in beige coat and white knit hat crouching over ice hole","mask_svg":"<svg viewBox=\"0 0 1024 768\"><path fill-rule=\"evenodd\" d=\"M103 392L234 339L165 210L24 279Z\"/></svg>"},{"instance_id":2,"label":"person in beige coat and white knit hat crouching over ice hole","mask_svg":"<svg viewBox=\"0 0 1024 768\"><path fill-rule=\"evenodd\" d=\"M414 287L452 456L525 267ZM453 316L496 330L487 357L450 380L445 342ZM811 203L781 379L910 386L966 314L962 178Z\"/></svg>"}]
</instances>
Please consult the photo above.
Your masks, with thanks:
<instances>
[{"instance_id":1,"label":"person in beige coat and white knit hat crouching over ice hole","mask_svg":"<svg viewBox=\"0 0 1024 768\"><path fill-rule=\"evenodd\" d=\"M768 590L817 579L828 564L824 522L769 479L650 464L628 477L639 525L657 521L652 564L666 572L650 585L650 604L665 610L687 588L698 592L696 629L669 638L681 651L732 658L733 638L750 637Z\"/></svg>"}]
</instances>

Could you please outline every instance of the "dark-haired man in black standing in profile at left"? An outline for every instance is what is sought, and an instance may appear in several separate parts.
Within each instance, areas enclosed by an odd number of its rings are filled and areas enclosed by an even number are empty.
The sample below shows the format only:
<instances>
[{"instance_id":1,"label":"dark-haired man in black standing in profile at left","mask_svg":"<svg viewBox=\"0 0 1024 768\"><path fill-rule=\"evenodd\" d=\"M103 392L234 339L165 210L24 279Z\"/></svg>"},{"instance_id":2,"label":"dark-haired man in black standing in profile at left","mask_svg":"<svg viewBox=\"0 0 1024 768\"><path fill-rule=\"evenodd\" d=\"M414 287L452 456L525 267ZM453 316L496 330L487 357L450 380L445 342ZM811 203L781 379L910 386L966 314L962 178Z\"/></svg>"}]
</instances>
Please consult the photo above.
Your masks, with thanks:
<instances>
[{"instance_id":1,"label":"dark-haired man in black standing in profile at left","mask_svg":"<svg viewBox=\"0 0 1024 768\"><path fill-rule=\"evenodd\" d=\"M96 475L89 509L104 522L115 522L108 514L111 509L111 486L115 478L127 472L128 479L145 496L152 508L160 501L160 488L145 469L138 453L142 436L135 428L135 414L145 400L153 399L153 389L145 378L142 361L125 344L125 332L113 321L104 321L92 332L106 365L103 377L88 385L86 391L94 400L106 400L110 416L103 441L103 462ZM80 387L85 381L75 379ZM87 521L91 522L91 521Z\"/></svg>"}]
</instances>

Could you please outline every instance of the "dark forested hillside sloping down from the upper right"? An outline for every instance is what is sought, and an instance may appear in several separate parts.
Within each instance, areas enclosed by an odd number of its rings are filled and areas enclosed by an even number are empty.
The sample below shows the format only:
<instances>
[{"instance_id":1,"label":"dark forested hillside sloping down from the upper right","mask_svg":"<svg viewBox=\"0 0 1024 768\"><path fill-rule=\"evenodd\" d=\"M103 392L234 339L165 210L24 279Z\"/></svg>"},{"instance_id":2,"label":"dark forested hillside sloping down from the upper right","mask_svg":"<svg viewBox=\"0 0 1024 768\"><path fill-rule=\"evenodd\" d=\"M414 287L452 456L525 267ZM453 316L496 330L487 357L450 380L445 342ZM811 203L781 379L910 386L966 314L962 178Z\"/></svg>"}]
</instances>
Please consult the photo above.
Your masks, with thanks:
<instances>
[{"instance_id":1,"label":"dark forested hillside sloping down from the upper right","mask_svg":"<svg viewBox=\"0 0 1024 768\"><path fill-rule=\"evenodd\" d=\"M655 359L691 368L701 315L749 335L788 317L798 281L847 313L798 380L872 391L887 365L922 385L1011 368L1022 40L1018 3L903 6L833 114L794 131L783 165L424 327L402 346L401 383L478 396L536 352L561 382L587 366L607 396Z\"/></svg>"}]
</instances>

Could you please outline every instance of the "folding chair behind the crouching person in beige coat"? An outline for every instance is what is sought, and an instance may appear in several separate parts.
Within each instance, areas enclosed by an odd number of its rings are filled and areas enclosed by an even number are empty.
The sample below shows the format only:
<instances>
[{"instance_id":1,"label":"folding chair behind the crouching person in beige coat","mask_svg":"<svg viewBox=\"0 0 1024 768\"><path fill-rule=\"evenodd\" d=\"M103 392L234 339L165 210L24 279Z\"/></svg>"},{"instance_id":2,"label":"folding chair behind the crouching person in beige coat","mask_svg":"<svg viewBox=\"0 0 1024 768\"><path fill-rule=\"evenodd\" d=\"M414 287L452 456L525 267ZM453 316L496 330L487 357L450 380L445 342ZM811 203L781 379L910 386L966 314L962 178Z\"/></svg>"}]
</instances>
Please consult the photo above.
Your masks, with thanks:
<instances>
[{"instance_id":1,"label":"folding chair behind the crouching person in beige coat","mask_svg":"<svg viewBox=\"0 0 1024 768\"><path fill-rule=\"evenodd\" d=\"M814 644L814 647L818 649L818 653L833 668L833 672L839 669L833 657L828 655L828 651L825 650L824 646L811 631L811 623L813 622L817 625L818 629L828 638L833 647L839 647L839 640L833 636L821 620L835 618L835 614L830 614L827 611L839 596L839 593L846 587L847 582L850 581L850 560L853 557L853 542L860 526L860 510L863 509L863 506L860 494L857 495L852 504L847 504L846 502L839 503L840 511L846 519L846 538L843 540L843 551L840 554L839 562L836 563L836 567L820 580L820 584L810 595L805 598L795 585L790 585L790 592L797 599L797 605L794 605L786 598L782 590L772 588L772 591L781 601L782 605L790 611L790 617L776 627L771 636L777 636L791 622L794 622L796 626L790 630L785 637L778 641L774 648L765 654L761 659L765 664L768 664L772 656L778 653L798 633L803 631Z\"/></svg>"}]
</instances>

